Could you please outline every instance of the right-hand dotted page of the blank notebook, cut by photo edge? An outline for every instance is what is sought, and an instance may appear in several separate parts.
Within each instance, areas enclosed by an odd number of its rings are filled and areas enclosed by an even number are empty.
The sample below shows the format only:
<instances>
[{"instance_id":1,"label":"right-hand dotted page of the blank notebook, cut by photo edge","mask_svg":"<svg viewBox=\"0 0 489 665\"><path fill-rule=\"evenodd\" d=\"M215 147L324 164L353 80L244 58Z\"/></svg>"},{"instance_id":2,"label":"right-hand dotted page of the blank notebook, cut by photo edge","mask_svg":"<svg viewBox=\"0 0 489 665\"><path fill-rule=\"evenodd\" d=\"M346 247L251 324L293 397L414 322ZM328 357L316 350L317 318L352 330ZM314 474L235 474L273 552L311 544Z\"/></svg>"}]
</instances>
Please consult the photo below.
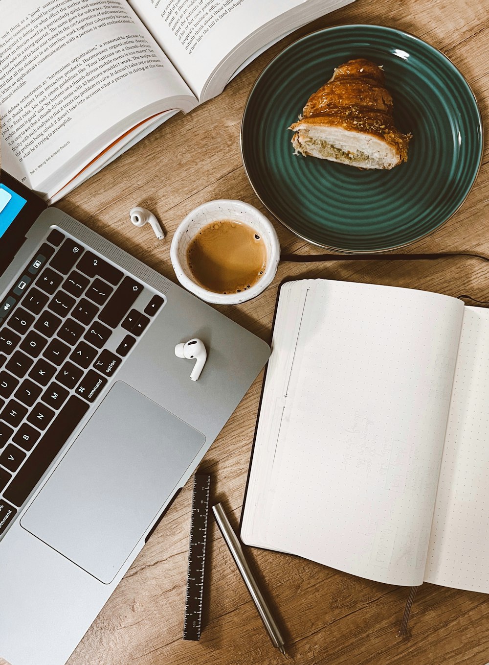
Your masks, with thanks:
<instances>
[{"instance_id":1,"label":"right-hand dotted page of the blank notebook, cut by photo edge","mask_svg":"<svg viewBox=\"0 0 489 665\"><path fill-rule=\"evenodd\" d=\"M466 307L425 581L489 593L489 310Z\"/></svg>"}]
</instances>

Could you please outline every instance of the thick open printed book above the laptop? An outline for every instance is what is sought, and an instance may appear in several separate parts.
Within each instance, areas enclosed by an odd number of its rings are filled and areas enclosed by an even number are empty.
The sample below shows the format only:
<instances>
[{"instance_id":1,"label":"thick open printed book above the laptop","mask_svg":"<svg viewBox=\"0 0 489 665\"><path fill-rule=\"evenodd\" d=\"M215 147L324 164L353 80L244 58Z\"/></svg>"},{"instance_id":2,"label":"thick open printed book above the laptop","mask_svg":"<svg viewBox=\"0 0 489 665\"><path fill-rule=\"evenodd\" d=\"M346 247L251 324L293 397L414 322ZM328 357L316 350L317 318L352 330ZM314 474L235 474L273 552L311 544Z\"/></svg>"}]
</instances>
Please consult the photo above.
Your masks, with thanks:
<instances>
[{"instance_id":1,"label":"thick open printed book above the laptop","mask_svg":"<svg viewBox=\"0 0 489 665\"><path fill-rule=\"evenodd\" d=\"M55 201L351 1L0 0L2 166Z\"/></svg>"}]
</instances>

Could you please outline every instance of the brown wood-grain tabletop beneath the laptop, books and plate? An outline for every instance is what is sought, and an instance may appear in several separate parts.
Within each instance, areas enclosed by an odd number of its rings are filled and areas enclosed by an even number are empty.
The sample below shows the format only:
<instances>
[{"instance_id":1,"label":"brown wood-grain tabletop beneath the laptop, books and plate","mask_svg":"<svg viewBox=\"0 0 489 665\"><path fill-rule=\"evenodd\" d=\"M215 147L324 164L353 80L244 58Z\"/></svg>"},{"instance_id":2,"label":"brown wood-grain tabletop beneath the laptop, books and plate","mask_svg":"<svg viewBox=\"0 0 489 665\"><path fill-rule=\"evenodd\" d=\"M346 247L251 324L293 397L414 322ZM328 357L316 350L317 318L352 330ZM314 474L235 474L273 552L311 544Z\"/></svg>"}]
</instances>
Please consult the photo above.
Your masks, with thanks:
<instances>
[{"instance_id":1,"label":"brown wood-grain tabletop beneath the laptop, books and plate","mask_svg":"<svg viewBox=\"0 0 489 665\"><path fill-rule=\"evenodd\" d=\"M485 0L357 0L290 35L248 66L219 97L188 116L179 114L58 203L109 240L176 281L171 235L196 205L243 199L268 214L246 179L239 128L246 96L262 68L286 45L313 29L379 23L409 31L445 53L466 76L483 118L489 104L489 26ZM434 235L407 251L466 249L489 255L487 155L462 208ZM155 211L167 239L134 229L136 204ZM268 214L268 217L271 215ZM317 248L275 223L282 251ZM285 277L329 277L416 287L489 300L489 267L482 261L281 263L274 283L250 303L221 311L270 340L278 283ZM204 459L213 474L213 500L223 501L237 527L262 375L254 382ZM146 547L69 660L70 665L272 665L284 662L211 520L204 629L200 642L181 638L191 505L187 483ZM407 590L260 549L248 556L280 625L290 658L300 665L482 665L489 661L489 597L425 584L411 614L410 638L396 636ZM1 659L0 659L1 660ZM35 665L35 664L33 664Z\"/></svg>"}]
</instances>

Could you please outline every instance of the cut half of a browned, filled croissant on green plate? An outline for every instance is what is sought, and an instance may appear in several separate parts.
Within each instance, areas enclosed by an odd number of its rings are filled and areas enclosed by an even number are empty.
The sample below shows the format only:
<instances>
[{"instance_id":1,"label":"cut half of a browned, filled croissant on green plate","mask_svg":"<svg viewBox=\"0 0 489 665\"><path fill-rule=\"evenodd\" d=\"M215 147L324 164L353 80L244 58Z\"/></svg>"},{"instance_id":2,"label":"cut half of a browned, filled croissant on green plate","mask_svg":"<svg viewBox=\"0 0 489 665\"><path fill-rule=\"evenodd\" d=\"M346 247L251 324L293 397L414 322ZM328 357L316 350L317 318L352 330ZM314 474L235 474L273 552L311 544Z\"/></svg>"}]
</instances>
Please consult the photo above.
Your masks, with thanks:
<instances>
[{"instance_id":1,"label":"cut half of a browned, filled croissant on green plate","mask_svg":"<svg viewBox=\"0 0 489 665\"><path fill-rule=\"evenodd\" d=\"M383 70L368 60L337 67L289 127L295 132L295 154L362 169L391 169L406 162L411 134L395 128L384 80Z\"/></svg>"}]
</instances>

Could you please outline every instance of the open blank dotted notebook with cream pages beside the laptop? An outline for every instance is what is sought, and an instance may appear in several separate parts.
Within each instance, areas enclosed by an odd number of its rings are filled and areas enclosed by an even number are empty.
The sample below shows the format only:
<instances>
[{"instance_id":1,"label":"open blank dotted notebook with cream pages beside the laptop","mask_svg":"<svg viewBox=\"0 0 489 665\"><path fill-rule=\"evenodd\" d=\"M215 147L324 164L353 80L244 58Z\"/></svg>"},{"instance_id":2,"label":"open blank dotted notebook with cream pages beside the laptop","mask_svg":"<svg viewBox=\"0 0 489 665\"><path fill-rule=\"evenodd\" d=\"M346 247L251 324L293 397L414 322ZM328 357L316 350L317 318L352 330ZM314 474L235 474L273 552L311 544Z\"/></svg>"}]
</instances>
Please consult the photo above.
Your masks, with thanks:
<instances>
[{"instance_id":1,"label":"open blank dotted notebook with cream pages beside the laptop","mask_svg":"<svg viewBox=\"0 0 489 665\"><path fill-rule=\"evenodd\" d=\"M489 310L282 285L241 537L353 575L489 593Z\"/></svg>"}]
</instances>

